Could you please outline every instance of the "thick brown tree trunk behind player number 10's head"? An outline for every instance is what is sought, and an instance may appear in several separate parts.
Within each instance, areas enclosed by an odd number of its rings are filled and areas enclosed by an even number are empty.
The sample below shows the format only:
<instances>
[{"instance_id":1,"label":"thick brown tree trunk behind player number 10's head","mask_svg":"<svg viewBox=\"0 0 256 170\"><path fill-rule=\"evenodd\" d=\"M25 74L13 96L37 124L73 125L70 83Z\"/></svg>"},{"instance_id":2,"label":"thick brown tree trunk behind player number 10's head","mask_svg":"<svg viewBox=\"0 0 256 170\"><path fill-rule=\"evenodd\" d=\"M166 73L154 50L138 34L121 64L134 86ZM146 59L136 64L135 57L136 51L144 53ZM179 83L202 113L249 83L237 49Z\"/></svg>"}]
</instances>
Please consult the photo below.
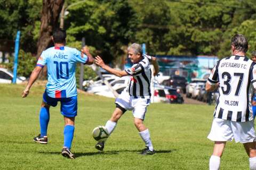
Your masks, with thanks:
<instances>
[{"instance_id":1,"label":"thick brown tree trunk behind player number 10's head","mask_svg":"<svg viewBox=\"0 0 256 170\"><path fill-rule=\"evenodd\" d=\"M44 49L53 46L51 36L53 30L59 28L58 21L64 2L65 0L43 0L40 36L37 41L37 59ZM46 76L46 72L47 69L43 69L43 76Z\"/></svg>"}]
</instances>

